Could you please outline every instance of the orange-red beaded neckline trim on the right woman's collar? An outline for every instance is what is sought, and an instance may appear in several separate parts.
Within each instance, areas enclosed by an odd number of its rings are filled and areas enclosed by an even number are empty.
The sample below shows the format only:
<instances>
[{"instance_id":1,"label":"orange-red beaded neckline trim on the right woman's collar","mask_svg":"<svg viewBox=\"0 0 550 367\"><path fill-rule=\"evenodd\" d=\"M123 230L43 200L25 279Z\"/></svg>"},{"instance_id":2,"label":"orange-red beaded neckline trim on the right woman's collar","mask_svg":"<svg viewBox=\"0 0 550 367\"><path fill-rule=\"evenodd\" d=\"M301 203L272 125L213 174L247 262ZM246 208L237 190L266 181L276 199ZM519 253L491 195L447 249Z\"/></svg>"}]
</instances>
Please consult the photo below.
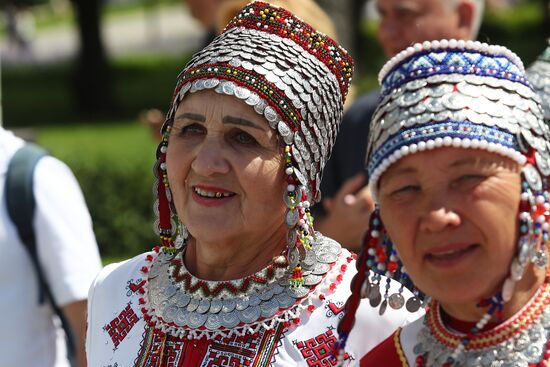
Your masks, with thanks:
<instances>
[{"instance_id":1,"label":"orange-red beaded neckline trim on the right woman's collar","mask_svg":"<svg viewBox=\"0 0 550 367\"><path fill-rule=\"evenodd\" d=\"M550 285L545 283L537 291L533 299L512 318L494 329L474 335L468 335L469 343L466 346L466 350L492 347L510 339L519 332L529 328L533 322L540 317L541 313L549 304ZM426 320L435 338L441 344L449 348L456 348L464 338L464 335L454 333L445 327L441 318L439 302L435 300L431 302Z\"/></svg>"}]
</instances>

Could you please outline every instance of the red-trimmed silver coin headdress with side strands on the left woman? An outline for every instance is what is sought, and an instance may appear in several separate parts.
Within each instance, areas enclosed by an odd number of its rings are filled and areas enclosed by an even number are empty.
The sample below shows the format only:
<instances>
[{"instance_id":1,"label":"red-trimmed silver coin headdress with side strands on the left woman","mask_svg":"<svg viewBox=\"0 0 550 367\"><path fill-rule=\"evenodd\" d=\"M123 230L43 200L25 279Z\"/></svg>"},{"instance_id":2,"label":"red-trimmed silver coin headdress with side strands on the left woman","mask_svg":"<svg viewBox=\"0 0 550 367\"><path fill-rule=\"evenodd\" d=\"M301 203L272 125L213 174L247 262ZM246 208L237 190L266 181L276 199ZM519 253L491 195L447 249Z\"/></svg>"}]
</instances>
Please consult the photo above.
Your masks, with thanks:
<instances>
[{"instance_id":1,"label":"red-trimmed silver coin headdress with side strands on the left woman","mask_svg":"<svg viewBox=\"0 0 550 367\"><path fill-rule=\"evenodd\" d=\"M186 236L184 227L177 229L180 221L166 173L176 109L188 93L211 89L232 95L265 117L285 143L288 258L296 267L291 282L301 285L300 260L312 251L315 236L309 206L320 198L322 170L342 119L352 71L342 47L287 10L264 2L247 5L178 77L155 168L163 245L172 246L177 232Z\"/></svg>"}]
</instances>

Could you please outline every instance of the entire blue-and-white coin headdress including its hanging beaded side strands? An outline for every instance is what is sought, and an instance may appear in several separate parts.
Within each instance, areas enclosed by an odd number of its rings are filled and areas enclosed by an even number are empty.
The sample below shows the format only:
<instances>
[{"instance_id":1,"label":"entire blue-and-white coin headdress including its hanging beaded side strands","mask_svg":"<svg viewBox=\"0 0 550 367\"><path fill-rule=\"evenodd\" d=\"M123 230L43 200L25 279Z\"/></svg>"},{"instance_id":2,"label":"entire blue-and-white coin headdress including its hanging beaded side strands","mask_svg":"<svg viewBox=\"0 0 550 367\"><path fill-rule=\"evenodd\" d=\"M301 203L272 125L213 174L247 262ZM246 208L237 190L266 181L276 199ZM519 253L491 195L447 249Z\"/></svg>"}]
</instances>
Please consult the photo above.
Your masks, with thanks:
<instances>
[{"instance_id":1,"label":"entire blue-and-white coin headdress including its hanging beaded side strands","mask_svg":"<svg viewBox=\"0 0 550 367\"><path fill-rule=\"evenodd\" d=\"M487 301L488 314L472 331L476 333L511 299L515 283L529 262L543 268L547 265L550 205L545 178L550 175L550 132L540 99L513 52L473 41L415 44L382 68L379 81L381 100L373 115L367 148L369 185L375 200L383 173L399 159L417 152L441 147L481 149L508 157L522 167L517 255L502 292ZM375 307L380 305L381 313L387 306L416 311L422 304L378 210L371 217L358 267L354 294L339 328L342 343L360 297L368 298ZM374 275L369 276L369 268ZM388 287L384 293L380 274L411 285L415 297L405 302L401 292L388 294ZM464 343L450 359L456 360Z\"/></svg>"}]
</instances>

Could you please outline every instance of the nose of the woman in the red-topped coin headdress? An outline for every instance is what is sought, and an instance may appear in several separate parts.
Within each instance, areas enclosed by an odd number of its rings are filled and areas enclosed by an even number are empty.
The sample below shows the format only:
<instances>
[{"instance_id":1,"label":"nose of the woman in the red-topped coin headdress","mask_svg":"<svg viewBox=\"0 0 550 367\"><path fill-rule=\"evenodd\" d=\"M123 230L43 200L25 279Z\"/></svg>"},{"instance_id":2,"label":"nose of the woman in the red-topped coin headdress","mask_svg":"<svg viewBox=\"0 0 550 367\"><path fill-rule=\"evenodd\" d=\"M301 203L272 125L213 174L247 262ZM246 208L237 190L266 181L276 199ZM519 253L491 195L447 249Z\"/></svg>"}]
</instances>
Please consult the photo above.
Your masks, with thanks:
<instances>
[{"instance_id":1,"label":"nose of the woman in the red-topped coin headdress","mask_svg":"<svg viewBox=\"0 0 550 367\"><path fill-rule=\"evenodd\" d=\"M201 176L212 176L228 173L230 166L220 143L207 138L196 150L191 169Z\"/></svg>"}]
</instances>

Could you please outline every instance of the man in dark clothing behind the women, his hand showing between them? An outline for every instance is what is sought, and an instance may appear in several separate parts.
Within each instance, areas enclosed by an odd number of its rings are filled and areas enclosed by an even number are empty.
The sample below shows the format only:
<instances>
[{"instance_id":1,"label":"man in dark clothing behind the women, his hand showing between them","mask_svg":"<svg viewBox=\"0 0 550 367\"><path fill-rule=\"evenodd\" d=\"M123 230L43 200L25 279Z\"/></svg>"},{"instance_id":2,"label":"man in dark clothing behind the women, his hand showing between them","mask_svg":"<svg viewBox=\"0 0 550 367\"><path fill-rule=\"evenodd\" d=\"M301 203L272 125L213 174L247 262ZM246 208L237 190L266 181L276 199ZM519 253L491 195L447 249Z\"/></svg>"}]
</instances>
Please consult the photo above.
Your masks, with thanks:
<instances>
[{"instance_id":1,"label":"man in dark clothing behind the women, his hand showing between them","mask_svg":"<svg viewBox=\"0 0 550 367\"><path fill-rule=\"evenodd\" d=\"M375 0L378 40L387 57L416 42L475 39L484 0ZM321 182L322 202L313 207L317 227L344 246L358 250L373 201L364 161L369 124L379 91L359 97L347 110Z\"/></svg>"}]
</instances>

